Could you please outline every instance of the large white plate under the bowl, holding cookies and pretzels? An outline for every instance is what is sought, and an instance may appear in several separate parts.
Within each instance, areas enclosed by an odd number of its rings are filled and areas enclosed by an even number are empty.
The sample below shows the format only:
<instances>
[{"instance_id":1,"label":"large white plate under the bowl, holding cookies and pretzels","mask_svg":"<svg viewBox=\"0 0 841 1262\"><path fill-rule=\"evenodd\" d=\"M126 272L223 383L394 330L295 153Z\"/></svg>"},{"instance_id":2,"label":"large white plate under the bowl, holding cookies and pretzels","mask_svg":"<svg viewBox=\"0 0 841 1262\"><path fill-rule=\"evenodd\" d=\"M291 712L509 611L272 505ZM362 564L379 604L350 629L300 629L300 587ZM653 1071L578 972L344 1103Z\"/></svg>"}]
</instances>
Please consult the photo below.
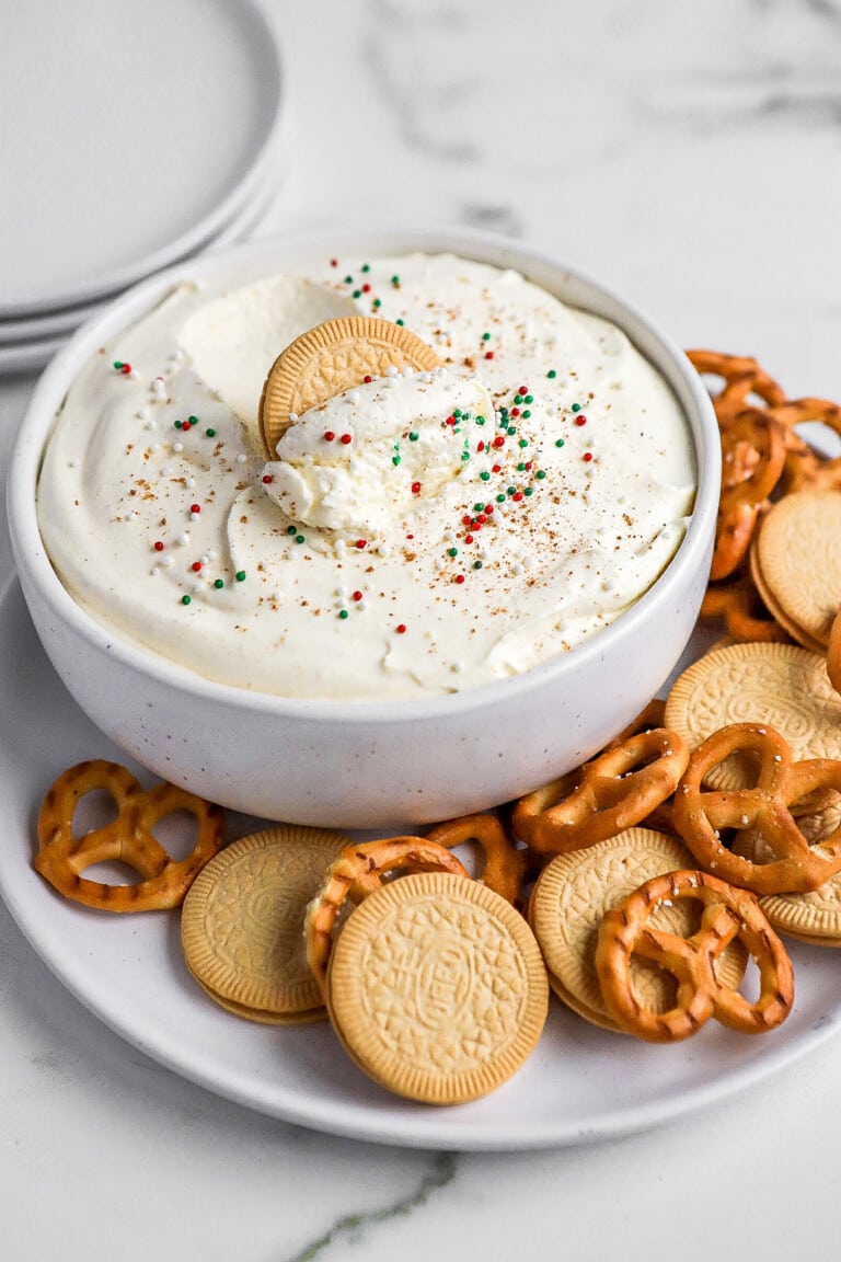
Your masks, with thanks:
<instances>
[{"instance_id":1,"label":"large white plate under the bowl, holding cookies and pretzels","mask_svg":"<svg viewBox=\"0 0 841 1262\"><path fill-rule=\"evenodd\" d=\"M574 1145L644 1129L725 1099L832 1034L835 953L794 944L797 1001L782 1029L739 1036L710 1022L652 1047L596 1030L552 1000L543 1037L512 1082L449 1109L397 1099L348 1060L328 1025L275 1030L228 1016L190 981L177 912L113 916L62 901L30 867L44 791L72 764L120 758L53 673L18 584L0 597L0 892L57 977L92 1013L175 1073L274 1117L422 1148ZM251 823L235 820L236 832Z\"/></svg>"}]
</instances>

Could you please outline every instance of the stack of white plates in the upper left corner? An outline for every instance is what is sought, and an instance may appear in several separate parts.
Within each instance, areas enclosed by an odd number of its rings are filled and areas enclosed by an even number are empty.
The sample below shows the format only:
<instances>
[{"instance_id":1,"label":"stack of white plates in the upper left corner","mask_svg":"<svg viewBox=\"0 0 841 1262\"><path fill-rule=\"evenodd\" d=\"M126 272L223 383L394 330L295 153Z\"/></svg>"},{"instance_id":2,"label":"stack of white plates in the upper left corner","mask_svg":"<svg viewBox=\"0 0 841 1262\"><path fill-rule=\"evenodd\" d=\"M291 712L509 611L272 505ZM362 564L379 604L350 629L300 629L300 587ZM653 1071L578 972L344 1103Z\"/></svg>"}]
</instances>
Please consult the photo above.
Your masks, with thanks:
<instances>
[{"instance_id":1,"label":"stack of white plates in the upper left corner","mask_svg":"<svg viewBox=\"0 0 841 1262\"><path fill-rule=\"evenodd\" d=\"M0 18L0 372L144 276L247 237L282 178L258 0L28 0Z\"/></svg>"}]
</instances>

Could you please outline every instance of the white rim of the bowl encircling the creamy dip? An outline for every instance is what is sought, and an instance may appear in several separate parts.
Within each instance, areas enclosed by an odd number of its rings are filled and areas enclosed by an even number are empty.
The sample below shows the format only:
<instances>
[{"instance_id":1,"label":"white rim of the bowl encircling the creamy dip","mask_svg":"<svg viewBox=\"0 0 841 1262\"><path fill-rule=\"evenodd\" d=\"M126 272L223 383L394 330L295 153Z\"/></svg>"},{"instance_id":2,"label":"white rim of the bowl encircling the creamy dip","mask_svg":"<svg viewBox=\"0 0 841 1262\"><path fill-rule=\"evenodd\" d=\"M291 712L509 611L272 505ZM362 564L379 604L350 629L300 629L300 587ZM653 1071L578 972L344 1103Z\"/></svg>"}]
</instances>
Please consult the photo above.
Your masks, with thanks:
<instances>
[{"instance_id":1,"label":"white rim of the bowl encircling the creamy dip","mask_svg":"<svg viewBox=\"0 0 841 1262\"><path fill-rule=\"evenodd\" d=\"M127 328L150 310L175 285L197 281L216 285L219 292L235 283L247 284L267 274L274 266L281 271L290 255L318 255L332 257L342 251L353 254L396 254L422 251L430 254L460 254L477 261L513 268L526 275L548 270L564 284L585 293L595 303L574 303L585 310L609 308L606 316L625 332L630 341L652 361L651 353L639 347L644 341L657 348L658 361L653 366L677 395L683 410L693 448L696 464L696 495L692 516L686 534L666 568L628 610L601 631L588 637L569 652L551 658L530 670L516 675L434 697L406 698L402 700L342 699L284 697L223 684L199 675L154 650L142 649L122 637L117 628L108 630L71 596L61 582L48 558L40 536L37 516L35 490L44 447L49 438L57 411L77 371L95 355L103 342ZM279 255L282 259L279 259ZM227 284L226 284L227 279ZM546 285L546 281L537 281ZM550 289L550 292L552 292ZM633 326L633 332L628 326ZM680 382L680 387L678 387ZM194 260L180 261L154 276L132 285L119 298L82 324L55 355L37 382L15 439L9 464L6 512L9 533L18 574L23 579L24 594L32 584L50 612L71 631L88 641L100 652L116 658L127 669L146 675L155 683L174 689L182 695L199 697L204 702L217 702L223 707L271 714L275 718L299 721L364 723L405 723L409 719L430 719L444 716L469 714L503 699L506 703L527 699L550 683L557 683L577 670L586 670L596 660L620 652L623 641L633 640L641 622L646 622L652 606L668 601L687 573L700 570L709 562L709 549L717 512L720 485L720 444L717 422L710 396L701 377L683 351L643 316L635 305L618 297L600 281L585 273L569 268L554 254L536 246L493 232L450 227L401 227L376 231L371 227L340 228L335 231L276 233L223 250L213 251ZM670 664L671 665L671 664ZM668 666L664 669L667 673Z\"/></svg>"}]
</instances>

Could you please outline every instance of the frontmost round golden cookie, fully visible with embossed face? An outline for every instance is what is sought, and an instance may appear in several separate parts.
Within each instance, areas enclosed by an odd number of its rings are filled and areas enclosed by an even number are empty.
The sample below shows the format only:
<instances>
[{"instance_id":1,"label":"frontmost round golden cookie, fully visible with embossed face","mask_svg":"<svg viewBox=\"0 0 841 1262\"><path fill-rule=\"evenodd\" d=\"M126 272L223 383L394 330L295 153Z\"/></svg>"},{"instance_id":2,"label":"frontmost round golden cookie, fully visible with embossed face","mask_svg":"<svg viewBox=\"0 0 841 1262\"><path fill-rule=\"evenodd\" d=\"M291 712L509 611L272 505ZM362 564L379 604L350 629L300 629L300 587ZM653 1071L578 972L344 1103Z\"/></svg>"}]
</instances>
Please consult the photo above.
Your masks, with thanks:
<instances>
[{"instance_id":1,"label":"frontmost round golden cookie, fully visible with embossed face","mask_svg":"<svg viewBox=\"0 0 841 1262\"><path fill-rule=\"evenodd\" d=\"M328 967L328 1011L357 1065L427 1104L478 1099L537 1045L548 986L518 911L478 881L401 877L349 916Z\"/></svg>"}]
</instances>

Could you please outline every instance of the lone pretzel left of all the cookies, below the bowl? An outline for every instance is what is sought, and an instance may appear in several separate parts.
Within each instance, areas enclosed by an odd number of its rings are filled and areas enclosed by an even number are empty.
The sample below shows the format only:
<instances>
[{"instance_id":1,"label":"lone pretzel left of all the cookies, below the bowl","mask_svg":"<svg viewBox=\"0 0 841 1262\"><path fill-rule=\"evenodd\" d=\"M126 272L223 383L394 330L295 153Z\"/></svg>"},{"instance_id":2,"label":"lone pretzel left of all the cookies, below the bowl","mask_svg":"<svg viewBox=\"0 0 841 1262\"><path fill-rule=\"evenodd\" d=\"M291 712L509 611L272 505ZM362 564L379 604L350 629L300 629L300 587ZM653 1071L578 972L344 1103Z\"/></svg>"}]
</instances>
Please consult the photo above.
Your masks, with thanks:
<instances>
[{"instance_id":1,"label":"lone pretzel left of all the cookies, below the bowl","mask_svg":"<svg viewBox=\"0 0 841 1262\"><path fill-rule=\"evenodd\" d=\"M73 835L77 803L88 793L110 794L117 817L83 837ZM195 846L184 859L173 859L153 829L174 811L188 811L198 824ZM144 790L125 767L93 760L64 771L47 793L38 815L38 853L33 864L59 893L106 911L153 911L177 907L199 870L223 844L221 806L185 789L161 782ZM81 873L115 859L142 877L135 885L88 881Z\"/></svg>"}]
</instances>

